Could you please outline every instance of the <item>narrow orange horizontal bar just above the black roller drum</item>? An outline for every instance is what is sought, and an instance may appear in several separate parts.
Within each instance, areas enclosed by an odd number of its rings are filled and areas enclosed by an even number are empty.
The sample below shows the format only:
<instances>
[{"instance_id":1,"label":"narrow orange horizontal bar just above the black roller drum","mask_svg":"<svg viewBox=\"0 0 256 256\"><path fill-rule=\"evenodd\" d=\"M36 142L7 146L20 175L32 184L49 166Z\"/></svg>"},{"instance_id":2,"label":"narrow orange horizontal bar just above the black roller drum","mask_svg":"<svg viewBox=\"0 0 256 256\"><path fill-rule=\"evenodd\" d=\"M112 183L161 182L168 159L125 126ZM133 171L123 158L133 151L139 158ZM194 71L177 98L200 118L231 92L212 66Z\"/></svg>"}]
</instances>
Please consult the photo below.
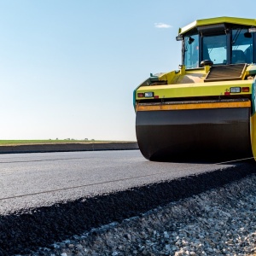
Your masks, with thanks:
<instances>
[{"instance_id":1,"label":"narrow orange horizontal bar just above the black roller drum","mask_svg":"<svg viewBox=\"0 0 256 256\"><path fill-rule=\"evenodd\" d=\"M157 110L183 110L183 109L207 109L207 108L250 108L251 102L211 102L211 103L188 103L188 104L163 104L163 105L138 105L137 111ZM255 118L256 121L256 118ZM256 139L256 137L255 137Z\"/></svg>"}]
</instances>

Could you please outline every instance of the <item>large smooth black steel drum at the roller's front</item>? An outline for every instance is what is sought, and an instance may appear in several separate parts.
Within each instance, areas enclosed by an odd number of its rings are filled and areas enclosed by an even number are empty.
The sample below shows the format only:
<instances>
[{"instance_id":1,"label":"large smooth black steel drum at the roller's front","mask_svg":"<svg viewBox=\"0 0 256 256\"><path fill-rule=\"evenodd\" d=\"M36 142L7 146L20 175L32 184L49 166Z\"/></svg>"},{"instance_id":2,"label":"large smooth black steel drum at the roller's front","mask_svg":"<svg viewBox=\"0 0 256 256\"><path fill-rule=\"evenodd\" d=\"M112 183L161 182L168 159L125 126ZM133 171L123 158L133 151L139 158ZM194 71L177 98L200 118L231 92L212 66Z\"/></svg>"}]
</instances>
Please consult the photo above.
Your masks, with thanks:
<instances>
[{"instance_id":1,"label":"large smooth black steel drum at the roller's front","mask_svg":"<svg viewBox=\"0 0 256 256\"><path fill-rule=\"evenodd\" d=\"M138 108L139 109L139 108ZM137 110L137 143L148 160L236 160L253 156L250 108Z\"/></svg>"}]
</instances>

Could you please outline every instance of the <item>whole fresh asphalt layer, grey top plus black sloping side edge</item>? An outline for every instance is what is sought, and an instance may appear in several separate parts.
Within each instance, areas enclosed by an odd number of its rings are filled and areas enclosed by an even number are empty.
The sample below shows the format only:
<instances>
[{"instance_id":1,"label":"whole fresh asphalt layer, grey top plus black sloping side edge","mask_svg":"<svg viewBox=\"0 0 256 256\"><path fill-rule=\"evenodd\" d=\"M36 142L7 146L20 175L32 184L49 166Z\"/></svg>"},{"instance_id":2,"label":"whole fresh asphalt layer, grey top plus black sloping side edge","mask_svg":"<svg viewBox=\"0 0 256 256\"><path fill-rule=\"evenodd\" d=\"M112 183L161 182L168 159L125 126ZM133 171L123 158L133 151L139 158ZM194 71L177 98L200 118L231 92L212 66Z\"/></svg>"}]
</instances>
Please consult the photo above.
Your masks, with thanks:
<instances>
[{"instance_id":1,"label":"whole fresh asphalt layer, grey top plus black sloping side edge","mask_svg":"<svg viewBox=\"0 0 256 256\"><path fill-rule=\"evenodd\" d=\"M0 255L30 253L255 169L249 161L151 162L139 150L0 154Z\"/></svg>"}]
</instances>

